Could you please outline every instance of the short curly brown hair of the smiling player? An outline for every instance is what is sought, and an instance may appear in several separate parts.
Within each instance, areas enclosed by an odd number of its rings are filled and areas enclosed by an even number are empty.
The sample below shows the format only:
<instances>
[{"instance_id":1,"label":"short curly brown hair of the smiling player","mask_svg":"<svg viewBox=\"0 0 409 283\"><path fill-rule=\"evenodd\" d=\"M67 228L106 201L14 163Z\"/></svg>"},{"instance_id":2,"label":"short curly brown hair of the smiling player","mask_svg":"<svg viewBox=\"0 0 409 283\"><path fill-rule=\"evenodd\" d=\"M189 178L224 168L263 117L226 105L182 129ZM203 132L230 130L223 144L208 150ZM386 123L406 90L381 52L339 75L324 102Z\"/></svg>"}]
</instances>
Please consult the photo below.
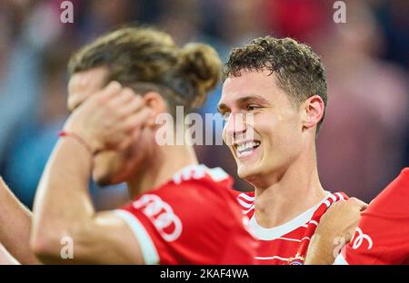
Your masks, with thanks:
<instances>
[{"instance_id":1,"label":"short curly brown hair of the smiling player","mask_svg":"<svg viewBox=\"0 0 409 283\"><path fill-rule=\"evenodd\" d=\"M256 38L250 44L232 50L224 65L224 77L240 76L242 71L264 70L275 74L277 85L289 95L295 106L316 94L323 99L326 108L324 65L310 46L288 37ZM317 132L323 121L324 115L317 124Z\"/></svg>"}]
</instances>

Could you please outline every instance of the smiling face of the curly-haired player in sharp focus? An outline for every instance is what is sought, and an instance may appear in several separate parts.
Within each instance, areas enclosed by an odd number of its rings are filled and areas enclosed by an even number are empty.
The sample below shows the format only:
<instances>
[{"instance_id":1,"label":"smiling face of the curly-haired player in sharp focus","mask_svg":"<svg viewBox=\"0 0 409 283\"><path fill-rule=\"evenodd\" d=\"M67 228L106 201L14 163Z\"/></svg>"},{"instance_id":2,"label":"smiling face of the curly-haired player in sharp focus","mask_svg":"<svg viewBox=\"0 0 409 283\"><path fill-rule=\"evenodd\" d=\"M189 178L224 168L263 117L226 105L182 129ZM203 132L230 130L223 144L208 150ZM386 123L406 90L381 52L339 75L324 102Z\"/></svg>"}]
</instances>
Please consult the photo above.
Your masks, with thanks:
<instances>
[{"instance_id":1,"label":"smiling face of the curly-haired player in sharp focus","mask_svg":"<svg viewBox=\"0 0 409 283\"><path fill-rule=\"evenodd\" d=\"M270 72L243 71L228 77L219 112L226 120L224 142L237 173L250 183L285 171L303 151L302 107L294 106Z\"/></svg>"}]
</instances>

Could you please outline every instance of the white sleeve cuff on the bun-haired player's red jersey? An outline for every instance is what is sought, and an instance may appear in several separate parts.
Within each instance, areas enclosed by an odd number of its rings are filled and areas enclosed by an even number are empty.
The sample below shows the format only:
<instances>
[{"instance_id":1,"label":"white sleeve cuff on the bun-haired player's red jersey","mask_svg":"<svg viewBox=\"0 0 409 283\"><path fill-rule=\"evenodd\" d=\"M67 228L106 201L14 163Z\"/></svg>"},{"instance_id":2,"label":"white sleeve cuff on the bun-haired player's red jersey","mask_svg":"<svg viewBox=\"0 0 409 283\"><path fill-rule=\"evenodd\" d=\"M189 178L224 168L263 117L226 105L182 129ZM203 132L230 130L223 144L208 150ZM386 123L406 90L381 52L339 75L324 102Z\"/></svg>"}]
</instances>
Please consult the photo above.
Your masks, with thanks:
<instances>
[{"instance_id":1,"label":"white sleeve cuff on the bun-haired player's red jersey","mask_svg":"<svg viewBox=\"0 0 409 283\"><path fill-rule=\"evenodd\" d=\"M129 211L115 210L114 212L119 218L125 221L125 223L134 233L135 239L138 241L139 247L142 250L142 256L144 257L145 264L159 264L159 255L155 248L155 244L146 231L144 225L142 225L135 215Z\"/></svg>"}]
</instances>

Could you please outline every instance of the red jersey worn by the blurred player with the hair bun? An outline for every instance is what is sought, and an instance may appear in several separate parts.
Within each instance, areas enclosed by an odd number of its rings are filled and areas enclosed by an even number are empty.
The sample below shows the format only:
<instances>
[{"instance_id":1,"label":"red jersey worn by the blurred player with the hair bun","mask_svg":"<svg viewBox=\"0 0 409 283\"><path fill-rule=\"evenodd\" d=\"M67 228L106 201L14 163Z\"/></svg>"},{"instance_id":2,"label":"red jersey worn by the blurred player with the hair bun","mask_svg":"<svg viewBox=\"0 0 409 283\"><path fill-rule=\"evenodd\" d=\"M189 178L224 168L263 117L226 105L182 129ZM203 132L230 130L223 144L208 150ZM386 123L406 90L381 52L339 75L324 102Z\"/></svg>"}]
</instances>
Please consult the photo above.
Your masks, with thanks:
<instances>
[{"instance_id":1,"label":"red jersey worn by the blurred player with the hair bun","mask_svg":"<svg viewBox=\"0 0 409 283\"><path fill-rule=\"evenodd\" d=\"M115 212L133 230L145 264L254 264L256 240L232 185L220 168L188 166Z\"/></svg>"}]
</instances>

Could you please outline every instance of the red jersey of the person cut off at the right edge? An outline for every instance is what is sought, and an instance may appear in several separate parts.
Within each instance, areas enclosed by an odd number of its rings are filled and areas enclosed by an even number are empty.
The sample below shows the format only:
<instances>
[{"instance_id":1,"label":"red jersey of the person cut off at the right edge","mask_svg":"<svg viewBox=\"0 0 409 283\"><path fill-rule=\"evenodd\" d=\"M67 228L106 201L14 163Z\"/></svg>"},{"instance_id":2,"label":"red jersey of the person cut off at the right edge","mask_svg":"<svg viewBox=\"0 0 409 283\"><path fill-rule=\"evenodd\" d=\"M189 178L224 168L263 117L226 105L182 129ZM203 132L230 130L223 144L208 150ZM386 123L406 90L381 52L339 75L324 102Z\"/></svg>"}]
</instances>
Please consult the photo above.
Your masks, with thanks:
<instances>
[{"instance_id":1,"label":"red jersey of the person cut off at the right edge","mask_svg":"<svg viewBox=\"0 0 409 283\"><path fill-rule=\"evenodd\" d=\"M409 168L364 210L335 264L409 264Z\"/></svg>"}]
</instances>

